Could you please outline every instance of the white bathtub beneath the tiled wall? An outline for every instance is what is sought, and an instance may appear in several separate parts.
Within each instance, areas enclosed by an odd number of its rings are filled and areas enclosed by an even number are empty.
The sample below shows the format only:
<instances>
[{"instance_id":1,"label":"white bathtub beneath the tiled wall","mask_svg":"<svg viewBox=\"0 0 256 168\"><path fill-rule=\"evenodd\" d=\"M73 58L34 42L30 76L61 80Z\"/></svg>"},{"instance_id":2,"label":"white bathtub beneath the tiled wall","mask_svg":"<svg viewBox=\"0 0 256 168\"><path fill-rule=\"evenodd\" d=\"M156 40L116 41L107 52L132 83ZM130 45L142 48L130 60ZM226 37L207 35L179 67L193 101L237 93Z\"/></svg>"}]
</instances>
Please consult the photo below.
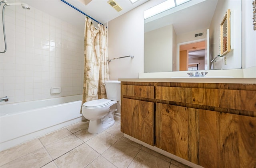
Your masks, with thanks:
<instances>
[{"instance_id":1,"label":"white bathtub beneath the tiled wall","mask_svg":"<svg viewBox=\"0 0 256 168\"><path fill-rule=\"evenodd\" d=\"M0 105L0 151L78 121L82 95Z\"/></svg>"}]
</instances>

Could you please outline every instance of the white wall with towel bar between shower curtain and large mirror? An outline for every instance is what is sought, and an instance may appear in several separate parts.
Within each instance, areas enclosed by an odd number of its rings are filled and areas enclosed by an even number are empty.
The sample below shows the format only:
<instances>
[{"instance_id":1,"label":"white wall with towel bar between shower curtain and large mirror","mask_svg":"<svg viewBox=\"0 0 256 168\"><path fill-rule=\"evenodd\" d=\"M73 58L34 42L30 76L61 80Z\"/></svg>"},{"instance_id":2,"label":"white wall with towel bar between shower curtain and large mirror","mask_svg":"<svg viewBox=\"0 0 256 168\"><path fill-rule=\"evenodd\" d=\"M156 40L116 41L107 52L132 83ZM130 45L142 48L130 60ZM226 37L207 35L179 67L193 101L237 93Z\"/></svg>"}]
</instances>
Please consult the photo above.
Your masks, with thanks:
<instances>
[{"instance_id":1,"label":"white wall with towel bar between shower curtain and large mirror","mask_svg":"<svg viewBox=\"0 0 256 168\"><path fill-rule=\"evenodd\" d=\"M138 78L144 72L144 11L159 3L150 0L108 22L108 58L134 55L109 63L110 80Z\"/></svg>"}]
</instances>

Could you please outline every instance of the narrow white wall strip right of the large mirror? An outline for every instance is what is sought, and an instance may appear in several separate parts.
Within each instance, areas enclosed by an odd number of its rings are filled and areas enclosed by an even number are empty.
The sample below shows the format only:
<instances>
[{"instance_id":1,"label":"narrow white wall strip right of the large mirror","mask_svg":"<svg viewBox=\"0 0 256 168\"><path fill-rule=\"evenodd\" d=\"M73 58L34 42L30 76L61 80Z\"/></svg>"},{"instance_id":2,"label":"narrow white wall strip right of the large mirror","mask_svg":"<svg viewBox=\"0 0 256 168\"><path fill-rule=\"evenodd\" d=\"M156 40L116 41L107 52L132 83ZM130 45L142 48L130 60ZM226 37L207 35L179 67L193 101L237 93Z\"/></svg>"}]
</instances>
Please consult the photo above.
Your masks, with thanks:
<instances>
[{"instance_id":1,"label":"narrow white wall strip right of the large mirror","mask_svg":"<svg viewBox=\"0 0 256 168\"><path fill-rule=\"evenodd\" d=\"M253 30L251 0L242 0L242 11L242 68L249 68L256 66L256 30Z\"/></svg>"}]
</instances>

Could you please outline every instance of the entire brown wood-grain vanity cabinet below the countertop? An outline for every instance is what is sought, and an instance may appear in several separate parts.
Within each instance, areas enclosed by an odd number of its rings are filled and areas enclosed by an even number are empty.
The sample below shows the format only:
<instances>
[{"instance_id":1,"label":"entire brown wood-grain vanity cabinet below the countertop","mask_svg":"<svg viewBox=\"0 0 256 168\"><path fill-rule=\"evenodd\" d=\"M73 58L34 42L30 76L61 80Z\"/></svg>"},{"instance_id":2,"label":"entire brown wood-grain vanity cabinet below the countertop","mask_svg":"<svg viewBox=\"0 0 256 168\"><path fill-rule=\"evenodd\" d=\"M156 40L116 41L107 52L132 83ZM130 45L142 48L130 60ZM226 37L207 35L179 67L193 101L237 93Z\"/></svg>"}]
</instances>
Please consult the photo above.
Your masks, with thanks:
<instances>
[{"instance_id":1,"label":"entire brown wood-grain vanity cabinet below the countertop","mask_svg":"<svg viewBox=\"0 0 256 168\"><path fill-rule=\"evenodd\" d=\"M121 88L122 132L203 167L256 167L255 84L121 82Z\"/></svg>"}]
</instances>

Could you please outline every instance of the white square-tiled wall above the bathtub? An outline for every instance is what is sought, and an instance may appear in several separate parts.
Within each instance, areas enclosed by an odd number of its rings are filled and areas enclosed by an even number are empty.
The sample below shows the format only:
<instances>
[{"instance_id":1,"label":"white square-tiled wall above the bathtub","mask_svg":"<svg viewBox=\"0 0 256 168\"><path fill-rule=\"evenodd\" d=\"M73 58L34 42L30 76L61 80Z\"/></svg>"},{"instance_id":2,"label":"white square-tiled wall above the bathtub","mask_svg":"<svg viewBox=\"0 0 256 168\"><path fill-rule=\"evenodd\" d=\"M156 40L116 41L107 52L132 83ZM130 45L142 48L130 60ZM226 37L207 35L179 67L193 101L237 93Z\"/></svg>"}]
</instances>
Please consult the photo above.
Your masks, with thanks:
<instances>
[{"instance_id":1,"label":"white square-tiled wall above the bathtub","mask_svg":"<svg viewBox=\"0 0 256 168\"><path fill-rule=\"evenodd\" d=\"M4 51L2 17L0 21L0 51ZM9 101L0 104L82 94L84 27L74 27L32 6L30 10L7 6L5 30L0 97L8 96ZM61 87L61 93L50 94L51 87Z\"/></svg>"}]
</instances>

